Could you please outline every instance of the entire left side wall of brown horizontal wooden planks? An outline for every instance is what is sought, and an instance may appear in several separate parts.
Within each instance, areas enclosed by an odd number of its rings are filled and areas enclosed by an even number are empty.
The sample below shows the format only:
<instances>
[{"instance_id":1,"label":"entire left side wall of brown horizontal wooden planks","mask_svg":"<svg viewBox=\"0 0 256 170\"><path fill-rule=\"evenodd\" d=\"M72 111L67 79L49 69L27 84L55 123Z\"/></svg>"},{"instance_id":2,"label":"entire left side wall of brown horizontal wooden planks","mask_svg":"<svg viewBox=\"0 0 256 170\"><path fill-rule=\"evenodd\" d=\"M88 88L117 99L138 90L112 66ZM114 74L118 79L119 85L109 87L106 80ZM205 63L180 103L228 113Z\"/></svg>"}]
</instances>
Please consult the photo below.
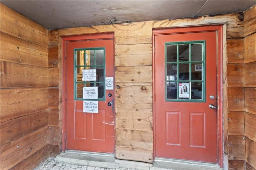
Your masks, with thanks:
<instances>
[{"instance_id":1,"label":"entire left side wall of brown horizontal wooden planks","mask_svg":"<svg viewBox=\"0 0 256 170\"><path fill-rule=\"evenodd\" d=\"M0 169L33 169L48 158L48 32L0 8Z\"/></svg>"}]
</instances>

